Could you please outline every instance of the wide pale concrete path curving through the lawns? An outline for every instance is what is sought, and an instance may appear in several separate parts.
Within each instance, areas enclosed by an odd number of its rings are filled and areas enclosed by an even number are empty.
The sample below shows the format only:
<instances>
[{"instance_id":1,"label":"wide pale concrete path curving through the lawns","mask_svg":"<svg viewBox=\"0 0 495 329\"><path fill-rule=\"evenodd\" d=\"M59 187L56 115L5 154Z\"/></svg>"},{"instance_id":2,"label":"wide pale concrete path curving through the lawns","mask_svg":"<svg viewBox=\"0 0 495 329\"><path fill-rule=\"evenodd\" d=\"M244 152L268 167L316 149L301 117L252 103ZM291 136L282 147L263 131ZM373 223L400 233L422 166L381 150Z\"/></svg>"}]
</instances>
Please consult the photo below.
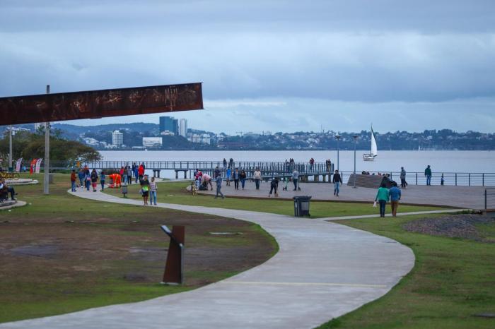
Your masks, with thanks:
<instances>
[{"instance_id":1,"label":"wide pale concrete path curving through the lawns","mask_svg":"<svg viewBox=\"0 0 495 329\"><path fill-rule=\"evenodd\" d=\"M73 194L141 205L81 189ZM328 219L158 206L255 222L275 237L279 253L262 265L190 292L4 323L0 328L314 328L383 296L414 265L406 246Z\"/></svg>"}]
</instances>

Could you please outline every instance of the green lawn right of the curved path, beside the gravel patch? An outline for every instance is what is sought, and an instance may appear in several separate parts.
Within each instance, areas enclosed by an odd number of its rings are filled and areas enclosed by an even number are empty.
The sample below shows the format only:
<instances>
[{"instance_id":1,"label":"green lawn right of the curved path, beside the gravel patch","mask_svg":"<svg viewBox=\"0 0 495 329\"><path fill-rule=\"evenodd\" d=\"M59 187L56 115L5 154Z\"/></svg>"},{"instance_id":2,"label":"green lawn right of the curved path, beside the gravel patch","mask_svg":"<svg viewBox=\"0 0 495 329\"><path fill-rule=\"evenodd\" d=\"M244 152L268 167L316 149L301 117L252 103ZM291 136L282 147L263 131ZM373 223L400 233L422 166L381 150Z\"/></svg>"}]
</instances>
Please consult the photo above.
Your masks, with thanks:
<instances>
[{"instance_id":1,"label":"green lawn right of the curved path, beside the gravel patch","mask_svg":"<svg viewBox=\"0 0 495 329\"><path fill-rule=\"evenodd\" d=\"M495 318L473 316L495 313L495 244L402 229L418 218L338 221L409 246L416 264L384 297L320 328L495 328ZM495 239L495 225L477 228Z\"/></svg>"}]
</instances>

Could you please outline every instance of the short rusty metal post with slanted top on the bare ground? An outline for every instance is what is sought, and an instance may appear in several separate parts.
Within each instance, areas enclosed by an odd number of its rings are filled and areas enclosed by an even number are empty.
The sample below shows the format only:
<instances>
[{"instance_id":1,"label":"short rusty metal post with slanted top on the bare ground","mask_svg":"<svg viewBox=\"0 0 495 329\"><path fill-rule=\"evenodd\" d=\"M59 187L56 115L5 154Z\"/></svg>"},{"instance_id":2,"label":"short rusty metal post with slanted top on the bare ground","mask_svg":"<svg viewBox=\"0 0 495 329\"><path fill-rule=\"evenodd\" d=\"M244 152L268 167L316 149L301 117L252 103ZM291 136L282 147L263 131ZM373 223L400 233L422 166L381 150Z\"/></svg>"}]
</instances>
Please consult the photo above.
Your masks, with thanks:
<instances>
[{"instance_id":1,"label":"short rusty metal post with slanted top on the bare ground","mask_svg":"<svg viewBox=\"0 0 495 329\"><path fill-rule=\"evenodd\" d=\"M184 244L185 244L185 227L174 226L172 231L166 225L161 229L170 237L168 245L167 263L163 273L165 285L180 285L184 282Z\"/></svg>"}]
</instances>

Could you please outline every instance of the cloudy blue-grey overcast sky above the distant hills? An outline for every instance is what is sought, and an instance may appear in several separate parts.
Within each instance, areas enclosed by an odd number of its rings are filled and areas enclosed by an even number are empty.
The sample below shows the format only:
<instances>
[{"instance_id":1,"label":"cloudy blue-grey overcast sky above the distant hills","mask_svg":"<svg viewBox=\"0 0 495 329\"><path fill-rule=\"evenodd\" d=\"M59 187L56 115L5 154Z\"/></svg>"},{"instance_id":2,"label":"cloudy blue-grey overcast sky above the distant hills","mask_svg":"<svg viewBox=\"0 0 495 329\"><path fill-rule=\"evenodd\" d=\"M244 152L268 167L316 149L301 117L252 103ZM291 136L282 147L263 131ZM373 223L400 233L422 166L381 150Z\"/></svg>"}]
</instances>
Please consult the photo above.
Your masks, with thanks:
<instances>
[{"instance_id":1,"label":"cloudy blue-grey overcast sky above the distant hills","mask_svg":"<svg viewBox=\"0 0 495 329\"><path fill-rule=\"evenodd\" d=\"M0 0L1 97L199 81L190 128L493 133L495 1Z\"/></svg>"}]
</instances>

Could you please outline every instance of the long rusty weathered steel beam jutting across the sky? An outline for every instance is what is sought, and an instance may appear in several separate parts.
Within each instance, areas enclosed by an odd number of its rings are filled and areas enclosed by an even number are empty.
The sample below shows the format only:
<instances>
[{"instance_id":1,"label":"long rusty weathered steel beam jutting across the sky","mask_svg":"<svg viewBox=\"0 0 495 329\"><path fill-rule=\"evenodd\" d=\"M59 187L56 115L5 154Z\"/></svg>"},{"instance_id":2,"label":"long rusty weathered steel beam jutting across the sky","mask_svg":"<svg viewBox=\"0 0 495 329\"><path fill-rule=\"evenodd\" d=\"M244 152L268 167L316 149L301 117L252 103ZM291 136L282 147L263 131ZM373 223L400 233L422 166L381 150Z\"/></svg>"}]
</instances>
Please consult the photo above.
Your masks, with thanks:
<instances>
[{"instance_id":1,"label":"long rusty weathered steel beam jutting across the sky","mask_svg":"<svg viewBox=\"0 0 495 329\"><path fill-rule=\"evenodd\" d=\"M203 109L201 83L0 98L0 125Z\"/></svg>"}]
</instances>

